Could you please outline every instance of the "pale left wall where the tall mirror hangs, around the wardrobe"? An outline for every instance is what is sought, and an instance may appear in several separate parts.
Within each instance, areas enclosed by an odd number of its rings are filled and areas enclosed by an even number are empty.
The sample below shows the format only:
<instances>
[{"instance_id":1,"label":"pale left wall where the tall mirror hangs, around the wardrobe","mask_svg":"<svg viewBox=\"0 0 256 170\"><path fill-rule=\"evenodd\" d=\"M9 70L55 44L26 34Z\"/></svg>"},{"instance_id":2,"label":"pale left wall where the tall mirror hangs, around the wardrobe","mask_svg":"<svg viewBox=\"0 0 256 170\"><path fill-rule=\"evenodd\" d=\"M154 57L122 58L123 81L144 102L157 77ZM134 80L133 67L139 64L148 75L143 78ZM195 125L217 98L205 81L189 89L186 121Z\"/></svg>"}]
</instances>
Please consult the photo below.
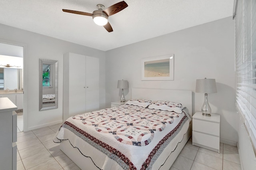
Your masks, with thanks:
<instances>
[{"instance_id":1,"label":"pale left wall where the tall mirror hangs, around the wardrobe","mask_svg":"<svg viewBox=\"0 0 256 170\"><path fill-rule=\"evenodd\" d=\"M100 59L100 108L105 108L105 52L0 24L0 42L24 47L24 131L62 122L63 54ZM39 58L59 61L58 109L39 111ZM79 64L79 63L78 63Z\"/></svg>"}]
</instances>

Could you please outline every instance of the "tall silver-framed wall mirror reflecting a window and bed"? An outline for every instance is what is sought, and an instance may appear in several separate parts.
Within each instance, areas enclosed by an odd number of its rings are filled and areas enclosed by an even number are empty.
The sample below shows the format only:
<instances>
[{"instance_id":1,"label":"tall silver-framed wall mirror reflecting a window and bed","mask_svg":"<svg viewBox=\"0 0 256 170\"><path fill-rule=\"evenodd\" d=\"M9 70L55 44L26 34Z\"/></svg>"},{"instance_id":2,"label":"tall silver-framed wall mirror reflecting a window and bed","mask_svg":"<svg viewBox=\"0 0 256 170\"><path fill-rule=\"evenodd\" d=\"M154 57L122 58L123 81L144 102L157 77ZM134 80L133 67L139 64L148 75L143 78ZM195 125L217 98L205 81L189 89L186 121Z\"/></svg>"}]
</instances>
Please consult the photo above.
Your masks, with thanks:
<instances>
[{"instance_id":1,"label":"tall silver-framed wall mirror reflecting a window and bed","mask_svg":"<svg viewBox=\"0 0 256 170\"><path fill-rule=\"evenodd\" d=\"M58 61L39 60L39 111L58 108Z\"/></svg>"}]
</instances>

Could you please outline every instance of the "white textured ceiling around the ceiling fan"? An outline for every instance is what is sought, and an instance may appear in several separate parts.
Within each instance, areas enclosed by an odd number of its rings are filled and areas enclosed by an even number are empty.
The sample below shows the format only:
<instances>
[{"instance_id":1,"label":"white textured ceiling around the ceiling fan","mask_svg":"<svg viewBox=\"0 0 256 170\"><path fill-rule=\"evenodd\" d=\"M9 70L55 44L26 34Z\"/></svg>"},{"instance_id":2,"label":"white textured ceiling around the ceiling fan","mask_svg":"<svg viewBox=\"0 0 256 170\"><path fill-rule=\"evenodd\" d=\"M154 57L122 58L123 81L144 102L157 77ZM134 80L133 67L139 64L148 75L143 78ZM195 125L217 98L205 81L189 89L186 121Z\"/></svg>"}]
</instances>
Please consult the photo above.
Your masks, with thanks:
<instances>
[{"instance_id":1,"label":"white textured ceiling around the ceiling fan","mask_svg":"<svg viewBox=\"0 0 256 170\"><path fill-rule=\"evenodd\" d=\"M108 18L113 32L92 13L122 0L0 0L0 23L107 51L206 22L232 16L234 0L125 0L128 7Z\"/></svg>"}]
</instances>

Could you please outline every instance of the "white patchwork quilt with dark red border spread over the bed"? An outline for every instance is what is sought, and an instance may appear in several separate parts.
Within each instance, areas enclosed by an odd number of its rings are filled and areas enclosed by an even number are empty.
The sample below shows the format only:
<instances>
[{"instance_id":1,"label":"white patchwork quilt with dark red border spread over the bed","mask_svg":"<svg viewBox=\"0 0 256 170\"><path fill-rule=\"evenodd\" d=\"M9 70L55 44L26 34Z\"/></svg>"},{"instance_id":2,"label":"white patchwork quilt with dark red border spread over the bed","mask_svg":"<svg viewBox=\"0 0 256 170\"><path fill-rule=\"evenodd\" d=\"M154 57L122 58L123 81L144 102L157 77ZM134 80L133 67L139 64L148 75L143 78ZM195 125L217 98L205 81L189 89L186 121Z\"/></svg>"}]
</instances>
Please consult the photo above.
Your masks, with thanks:
<instances>
[{"instance_id":1,"label":"white patchwork quilt with dark red border spread over the bed","mask_svg":"<svg viewBox=\"0 0 256 170\"><path fill-rule=\"evenodd\" d=\"M68 140L99 169L158 169L186 134L190 120L185 111L121 105L70 117L54 142Z\"/></svg>"}]
</instances>

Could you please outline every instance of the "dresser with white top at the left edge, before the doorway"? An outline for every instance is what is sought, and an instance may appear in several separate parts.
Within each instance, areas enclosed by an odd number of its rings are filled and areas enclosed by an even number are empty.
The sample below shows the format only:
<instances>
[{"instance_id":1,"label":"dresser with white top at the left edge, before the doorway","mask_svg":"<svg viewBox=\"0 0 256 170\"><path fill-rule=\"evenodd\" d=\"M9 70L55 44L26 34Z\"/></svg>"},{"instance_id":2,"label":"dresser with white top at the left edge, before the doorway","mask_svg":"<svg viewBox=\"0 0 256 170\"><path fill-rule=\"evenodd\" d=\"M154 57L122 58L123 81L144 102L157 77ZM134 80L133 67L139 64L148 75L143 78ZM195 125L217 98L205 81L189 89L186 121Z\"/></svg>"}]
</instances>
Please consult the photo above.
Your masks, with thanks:
<instances>
[{"instance_id":1,"label":"dresser with white top at the left edge, before the doorway","mask_svg":"<svg viewBox=\"0 0 256 170\"><path fill-rule=\"evenodd\" d=\"M17 169L17 107L7 97L0 98L0 169Z\"/></svg>"}]
</instances>

